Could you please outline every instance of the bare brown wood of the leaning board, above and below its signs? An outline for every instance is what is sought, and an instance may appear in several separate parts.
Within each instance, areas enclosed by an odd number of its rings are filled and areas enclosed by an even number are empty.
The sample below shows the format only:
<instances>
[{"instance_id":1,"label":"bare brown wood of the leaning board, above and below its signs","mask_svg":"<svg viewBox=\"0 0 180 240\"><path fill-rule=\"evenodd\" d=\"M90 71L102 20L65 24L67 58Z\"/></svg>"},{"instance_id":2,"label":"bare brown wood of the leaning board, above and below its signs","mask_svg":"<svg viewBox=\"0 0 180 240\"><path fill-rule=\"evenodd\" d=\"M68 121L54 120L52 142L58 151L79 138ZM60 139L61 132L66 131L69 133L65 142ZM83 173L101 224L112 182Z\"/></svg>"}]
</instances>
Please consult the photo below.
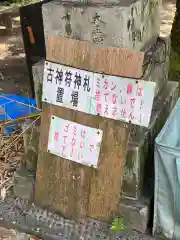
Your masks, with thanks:
<instances>
[{"instance_id":1,"label":"bare brown wood of the leaning board, above and below its signs","mask_svg":"<svg viewBox=\"0 0 180 240\"><path fill-rule=\"evenodd\" d=\"M48 61L76 68L137 77L141 75L144 55L126 49L97 48L88 42L50 37L46 56ZM97 169L47 152L52 115L103 131ZM118 211L128 137L128 124L44 103L36 202L67 218L89 216L109 221ZM78 180L74 181L73 176Z\"/></svg>"}]
</instances>

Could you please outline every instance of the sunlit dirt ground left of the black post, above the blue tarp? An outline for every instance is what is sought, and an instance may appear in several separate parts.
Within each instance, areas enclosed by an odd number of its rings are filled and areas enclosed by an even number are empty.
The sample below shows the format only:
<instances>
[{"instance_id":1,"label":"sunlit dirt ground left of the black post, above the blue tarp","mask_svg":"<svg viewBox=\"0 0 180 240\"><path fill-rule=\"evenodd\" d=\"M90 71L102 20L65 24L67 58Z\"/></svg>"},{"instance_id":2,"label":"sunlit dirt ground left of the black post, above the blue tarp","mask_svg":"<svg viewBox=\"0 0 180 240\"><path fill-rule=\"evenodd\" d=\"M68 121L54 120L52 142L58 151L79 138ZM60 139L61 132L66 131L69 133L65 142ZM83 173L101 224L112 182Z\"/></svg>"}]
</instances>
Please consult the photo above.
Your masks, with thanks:
<instances>
[{"instance_id":1,"label":"sunlit dirt ground left of the black post, above the blue tarp","mask_svg":"<svg viewBox=\"0 0 180 240\"><path fill-rule=\"evenodd\" d=\"M19 18L13 21L13 34L0 28L0 88L8 93L29 93L29 78Z\"/></svg>"}]
</instances>

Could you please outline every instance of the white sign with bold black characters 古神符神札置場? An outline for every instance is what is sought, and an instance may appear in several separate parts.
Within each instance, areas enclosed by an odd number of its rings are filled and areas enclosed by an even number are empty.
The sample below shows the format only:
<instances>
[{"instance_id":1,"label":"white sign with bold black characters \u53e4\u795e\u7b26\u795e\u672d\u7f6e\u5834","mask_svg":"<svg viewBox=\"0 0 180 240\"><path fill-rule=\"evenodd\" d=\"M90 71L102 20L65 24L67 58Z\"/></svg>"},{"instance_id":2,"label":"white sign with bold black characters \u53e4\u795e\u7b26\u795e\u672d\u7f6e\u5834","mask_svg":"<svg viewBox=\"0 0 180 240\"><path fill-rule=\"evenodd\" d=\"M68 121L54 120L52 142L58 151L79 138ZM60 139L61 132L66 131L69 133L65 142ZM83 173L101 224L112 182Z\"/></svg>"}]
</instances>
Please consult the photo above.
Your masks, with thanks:
<instances>
[{"instance_id":1,"label":"white sign with bold black characters \u53e4\u795e\u7b26\u795e\u672d\u7f6e\u5834","mask_svg":"<svg viewBox=\"0 0 180 240\"><path fill-rule=\"evenodd\" d=\"M93 73L45 62L42 100L89 112Z\"/></svg>"}]
</instances>

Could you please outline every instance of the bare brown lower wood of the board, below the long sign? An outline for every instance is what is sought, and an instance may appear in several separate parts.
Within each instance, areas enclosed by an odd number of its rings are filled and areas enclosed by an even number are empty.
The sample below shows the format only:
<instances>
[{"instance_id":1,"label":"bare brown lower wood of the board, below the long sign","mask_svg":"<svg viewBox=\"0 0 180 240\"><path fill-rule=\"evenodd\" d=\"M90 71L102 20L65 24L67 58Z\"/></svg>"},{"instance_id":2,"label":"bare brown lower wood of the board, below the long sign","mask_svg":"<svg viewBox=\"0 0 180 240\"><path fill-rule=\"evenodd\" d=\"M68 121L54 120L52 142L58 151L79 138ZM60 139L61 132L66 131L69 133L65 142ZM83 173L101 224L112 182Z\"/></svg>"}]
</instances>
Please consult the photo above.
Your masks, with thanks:
<instances>
[{"instance_id":1,"label":"bare brown lower wood of the board, below the long sign","mask_svg":"<svg viewBox=\"0 0 180 240\"><path fill-rule=\"evenodd\" d=\"M102 129L98 170L47 153L44 129L49 129L52 115ZM128 135L127 124L119 121L43 104L36 202L71 219L89 215L108 221L118 210ZM81 180L73 182L74 175Z\"/></svg>"}]
</instances>

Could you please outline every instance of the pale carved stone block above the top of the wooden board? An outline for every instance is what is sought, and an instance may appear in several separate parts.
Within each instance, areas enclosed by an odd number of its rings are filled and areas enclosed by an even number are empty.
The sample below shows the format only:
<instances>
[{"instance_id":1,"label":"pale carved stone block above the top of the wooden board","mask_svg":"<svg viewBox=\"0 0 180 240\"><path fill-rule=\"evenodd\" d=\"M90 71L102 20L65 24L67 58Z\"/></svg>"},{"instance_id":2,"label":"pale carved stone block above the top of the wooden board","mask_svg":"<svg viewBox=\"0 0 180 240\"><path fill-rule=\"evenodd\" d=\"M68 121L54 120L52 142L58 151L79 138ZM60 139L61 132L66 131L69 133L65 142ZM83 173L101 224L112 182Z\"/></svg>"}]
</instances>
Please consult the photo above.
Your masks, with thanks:
<instances>
[{"instance_id":1,"label":"pale carved stone block above the top of the wooden board","mask_svg":"<svg viewBox=\"0 0 180 240\"><path fill-rule=\"evenodd\" d=\"M66 36L141 50L159 35L160 5L161 0L52 1L42 6L45 41Z\"/></svg>"}]
</instances>

